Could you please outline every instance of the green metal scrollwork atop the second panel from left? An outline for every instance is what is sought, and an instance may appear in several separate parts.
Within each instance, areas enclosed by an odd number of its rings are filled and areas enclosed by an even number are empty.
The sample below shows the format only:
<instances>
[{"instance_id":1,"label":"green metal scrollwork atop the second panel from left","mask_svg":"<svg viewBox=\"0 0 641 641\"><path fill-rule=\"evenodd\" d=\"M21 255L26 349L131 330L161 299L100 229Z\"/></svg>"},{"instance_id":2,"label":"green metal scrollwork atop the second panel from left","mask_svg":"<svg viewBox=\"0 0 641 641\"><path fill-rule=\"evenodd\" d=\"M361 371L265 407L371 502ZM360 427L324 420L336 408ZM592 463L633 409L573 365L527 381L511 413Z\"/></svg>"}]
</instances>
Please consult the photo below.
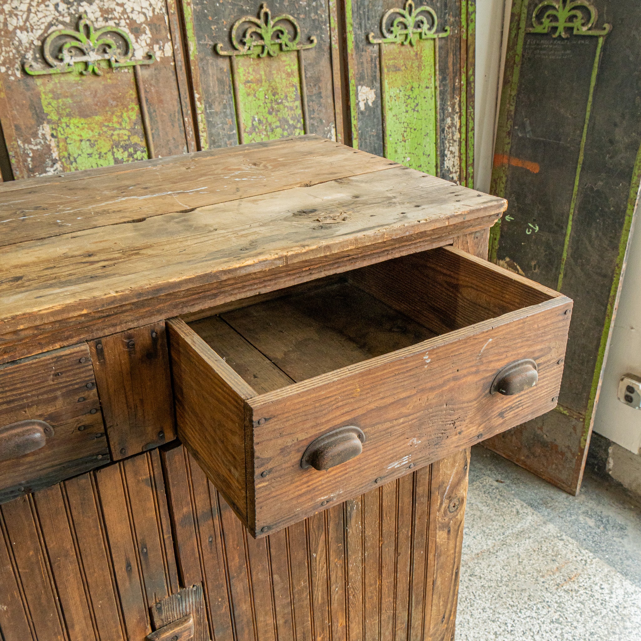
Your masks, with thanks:
<instances>
[{"instance_id":1,"label":"green metal scrollwork atop the second panel from left","mask_svg":"<svg viewBox=\"0 0 641 641\"><path fill-rule=\"evenodd\" d=\"M242 24L249 23L244 33L238 38L238 29ZM289 26L289 28L288 28ZM278 56L284 51L299 51L312 49L316 46L316 38L310 36L308 44L301 44L301 28L291 15L284 13L272 20L272 12L267 4L260 5L258 18L253 15L244 15L234 22L231 28L231 44L235 51L223 51L222 43L216 46L216 52L221 56L252 56L265 58Z\"/></svg>"}]
</instances>

